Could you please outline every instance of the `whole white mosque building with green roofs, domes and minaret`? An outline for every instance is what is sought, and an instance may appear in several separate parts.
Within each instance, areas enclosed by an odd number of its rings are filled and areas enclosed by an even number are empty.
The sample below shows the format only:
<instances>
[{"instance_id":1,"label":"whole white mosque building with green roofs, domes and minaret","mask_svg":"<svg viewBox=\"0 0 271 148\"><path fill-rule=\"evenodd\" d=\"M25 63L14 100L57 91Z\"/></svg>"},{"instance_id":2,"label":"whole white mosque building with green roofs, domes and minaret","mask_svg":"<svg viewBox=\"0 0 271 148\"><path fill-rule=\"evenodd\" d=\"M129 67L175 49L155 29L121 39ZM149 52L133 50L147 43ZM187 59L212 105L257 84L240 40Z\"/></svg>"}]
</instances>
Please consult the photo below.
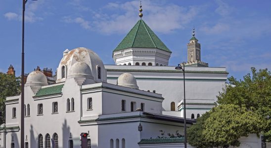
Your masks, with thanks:
<instances>
[{"instance_id":1,"label":"whole white mosque building with green roofs, domes and minaret","mask_svg":"<svg viewBox=\"0 0 271 148\"><path fill-rule=\"evenodd\" d=\"M52 148L51 139L55 148L81 148L82 132L89 133L88 148L184 147L183 138L158 138L183 134L183 77L168 65L171 53L142 19L113 51L116 65L104 65L87 48L65 50L55 84L40 71L27 77L25 148ZM228 72L201 61L194 32L183 65L189 128L217 105ZM6 98L0 148L20 147L20 98ZM261 148L253 135L241 142L241 148Z\"/></svg>"}]
</instances>

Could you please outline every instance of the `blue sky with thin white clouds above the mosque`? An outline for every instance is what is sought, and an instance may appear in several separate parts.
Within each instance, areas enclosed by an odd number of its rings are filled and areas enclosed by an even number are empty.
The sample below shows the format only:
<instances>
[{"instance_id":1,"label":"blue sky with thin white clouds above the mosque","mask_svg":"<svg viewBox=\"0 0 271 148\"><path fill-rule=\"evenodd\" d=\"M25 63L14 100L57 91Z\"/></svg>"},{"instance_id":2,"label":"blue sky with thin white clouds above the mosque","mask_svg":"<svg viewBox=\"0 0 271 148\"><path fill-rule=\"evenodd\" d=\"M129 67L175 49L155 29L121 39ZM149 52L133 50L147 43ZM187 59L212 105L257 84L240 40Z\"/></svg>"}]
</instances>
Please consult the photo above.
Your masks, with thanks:
<instances>
[{"instance_id":1,"label":"blue sky with thin white clouds above the mosque","mask_svg":"<svg viewBox=\"0 0 271 148\"><path fill-rule=\"evenodd\" d=\"M55 72L65 49L87 47L104 64L138 21L140 0L28 0L25 72ZM270 0L141 0L143 20L172 50L170 66L187 61L195 26L202 61L242 78L250 67L271 69ZM0 72L21 73L21 0L0 0Z\"/></svg>"}]
</instances>

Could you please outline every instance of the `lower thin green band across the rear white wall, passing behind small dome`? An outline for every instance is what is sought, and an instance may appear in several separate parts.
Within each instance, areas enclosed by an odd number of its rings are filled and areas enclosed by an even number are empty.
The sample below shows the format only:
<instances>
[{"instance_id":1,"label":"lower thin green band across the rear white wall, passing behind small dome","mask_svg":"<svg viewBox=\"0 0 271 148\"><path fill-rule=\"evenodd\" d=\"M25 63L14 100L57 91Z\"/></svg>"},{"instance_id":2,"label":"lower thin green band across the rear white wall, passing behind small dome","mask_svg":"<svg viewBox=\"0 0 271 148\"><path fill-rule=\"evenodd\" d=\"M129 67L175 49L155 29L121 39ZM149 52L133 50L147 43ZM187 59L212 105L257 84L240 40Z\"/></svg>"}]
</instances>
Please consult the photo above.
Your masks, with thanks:
<instances>
[{"instance_id":1,"label":"lower thin green band across the rear white wall, passing behind small dome","mask_svg":"<svg viewBox=\"0 0 271 148\"><path fill-rule=\"evenodd\" d=\"M108 79L118 79L118 77L107 77ZM156 77L136 77L135 79L155 79L155 80L183 80L183 78L156 78ZM207 79L207 78L185 78L191 81L226 81L227 79Z\"/></svg>"}]
</instances>

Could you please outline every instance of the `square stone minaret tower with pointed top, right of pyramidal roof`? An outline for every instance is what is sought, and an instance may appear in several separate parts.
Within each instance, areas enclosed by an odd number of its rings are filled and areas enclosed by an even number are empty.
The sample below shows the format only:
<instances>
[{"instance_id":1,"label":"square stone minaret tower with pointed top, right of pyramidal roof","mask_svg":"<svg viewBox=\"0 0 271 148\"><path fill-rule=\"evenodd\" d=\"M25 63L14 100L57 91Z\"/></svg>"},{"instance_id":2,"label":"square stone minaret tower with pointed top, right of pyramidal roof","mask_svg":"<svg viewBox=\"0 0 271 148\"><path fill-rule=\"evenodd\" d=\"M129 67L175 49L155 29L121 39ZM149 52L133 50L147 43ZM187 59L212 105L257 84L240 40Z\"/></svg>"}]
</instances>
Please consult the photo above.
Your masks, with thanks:
<instances>
[{"instance_id":1,"label":"square stone minaret tower with pointed top, right of pyramidal roof","mask_svg":"<svg viewBox=\"0 0 271 148\"><path fill-rule=\"evenodd\" d=\"M190 42L187 44L187 63L186 66L208 67L208 63L201 61L201 48L198 39L195 37L195 28L193 29Z\"/></svg>"}]
</instances>

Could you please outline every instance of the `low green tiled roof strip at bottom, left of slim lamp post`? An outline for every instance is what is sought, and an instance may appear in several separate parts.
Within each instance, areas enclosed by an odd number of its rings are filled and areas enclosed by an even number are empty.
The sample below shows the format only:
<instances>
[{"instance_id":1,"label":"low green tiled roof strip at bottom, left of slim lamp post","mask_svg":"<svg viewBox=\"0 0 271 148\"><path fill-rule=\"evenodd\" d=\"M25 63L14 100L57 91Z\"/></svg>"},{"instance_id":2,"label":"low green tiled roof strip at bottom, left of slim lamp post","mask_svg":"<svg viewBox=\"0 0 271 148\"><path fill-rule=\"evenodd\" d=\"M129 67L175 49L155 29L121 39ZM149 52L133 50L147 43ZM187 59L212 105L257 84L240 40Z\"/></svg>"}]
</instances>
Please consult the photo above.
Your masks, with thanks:
<instances>
[{"instance_id":1,"label":"low green tiled roof strip at bottom, left of slim lamp post","mask_svg":"<svg viewBox=\"0 0 271 148\"><path fill-rule=\"evenodd\" d=\"M183 143L184 138L156 138L156 139L141 139L138 145L151 144L178 144Z\"/></svg>"}]
</instances>

